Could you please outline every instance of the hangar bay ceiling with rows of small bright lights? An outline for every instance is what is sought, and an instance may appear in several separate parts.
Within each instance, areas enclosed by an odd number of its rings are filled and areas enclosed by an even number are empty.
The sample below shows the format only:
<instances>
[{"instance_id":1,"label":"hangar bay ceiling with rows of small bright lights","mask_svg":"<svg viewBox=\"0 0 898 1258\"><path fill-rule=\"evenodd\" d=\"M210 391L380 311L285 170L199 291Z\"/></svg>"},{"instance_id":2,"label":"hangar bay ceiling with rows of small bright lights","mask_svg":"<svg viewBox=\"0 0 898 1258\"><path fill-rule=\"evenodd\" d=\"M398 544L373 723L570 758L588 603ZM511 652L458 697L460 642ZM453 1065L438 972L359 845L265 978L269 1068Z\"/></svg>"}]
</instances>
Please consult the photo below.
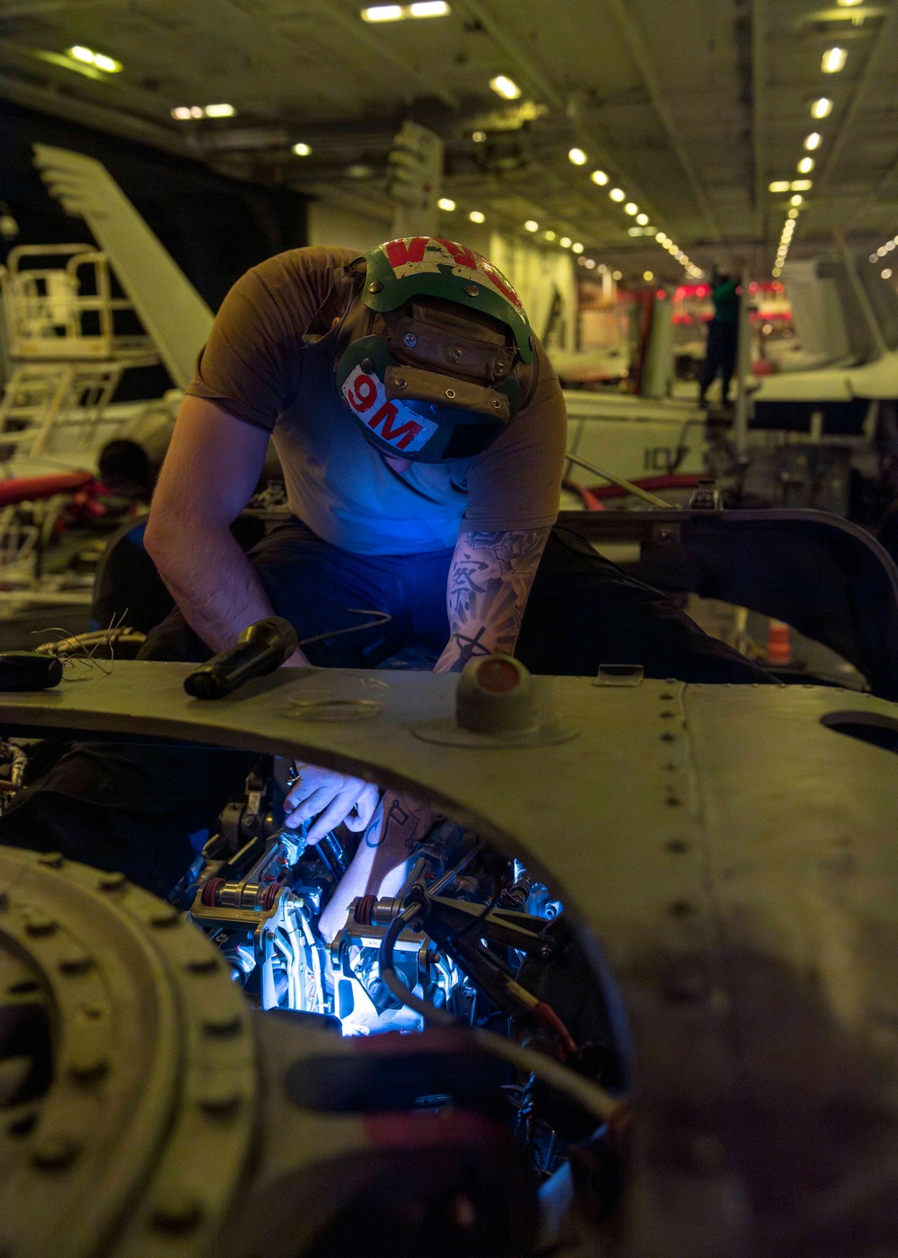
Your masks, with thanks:
<instances>
[{"instance_id":1,"label":"hangar bay ceiling with rows of small bright lights","mask_svg":"<svg viewBox=\"0 0 898 1258\"><path fill-rule=\"evenodd\" d=\"M385 221L410 117L446 145L446 233L458 214L537 224L667 279L683 269L658 233L699 265L768 269L795 195L792 257L895 231L895 0L379 8L407 20L362 20L361 0L1 0L0 94Z\"/></svg>"}]
</instances>

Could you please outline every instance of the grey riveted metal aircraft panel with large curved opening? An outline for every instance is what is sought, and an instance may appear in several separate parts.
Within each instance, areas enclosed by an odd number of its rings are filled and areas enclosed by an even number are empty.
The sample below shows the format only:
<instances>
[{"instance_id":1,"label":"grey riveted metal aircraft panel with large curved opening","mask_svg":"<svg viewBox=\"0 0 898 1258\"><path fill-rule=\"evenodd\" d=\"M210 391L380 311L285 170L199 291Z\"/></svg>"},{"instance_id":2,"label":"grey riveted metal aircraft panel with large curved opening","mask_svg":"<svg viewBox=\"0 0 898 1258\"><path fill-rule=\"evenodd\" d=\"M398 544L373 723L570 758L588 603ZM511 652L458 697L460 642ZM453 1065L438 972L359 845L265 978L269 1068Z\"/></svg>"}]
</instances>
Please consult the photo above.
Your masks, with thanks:
<instances>
[{"instance_id":1,"label":"grey riveted metal aircraft panel with large curved opening","mask_svg":"<svg viewBox=\"0 0 898 1258\"><path fill-rule=\"evenodd\" d=\"M824 687L535 678L577 737L474 750L411 733L450 717L452 676L296 669L201 703L187 672L118 664L0 716L296 755L474 825L545 877L620 985L638 1096L623 1252L841 1254L867 1215L892 1243L868 1196L894 1200L898 757L823 722L850 708L898 728L898 707ZM297 716L306 697L372 693L365 722ZM297 1140L322 1149L356 1138L303 1123Z\"/></svg>"}]
</instances>

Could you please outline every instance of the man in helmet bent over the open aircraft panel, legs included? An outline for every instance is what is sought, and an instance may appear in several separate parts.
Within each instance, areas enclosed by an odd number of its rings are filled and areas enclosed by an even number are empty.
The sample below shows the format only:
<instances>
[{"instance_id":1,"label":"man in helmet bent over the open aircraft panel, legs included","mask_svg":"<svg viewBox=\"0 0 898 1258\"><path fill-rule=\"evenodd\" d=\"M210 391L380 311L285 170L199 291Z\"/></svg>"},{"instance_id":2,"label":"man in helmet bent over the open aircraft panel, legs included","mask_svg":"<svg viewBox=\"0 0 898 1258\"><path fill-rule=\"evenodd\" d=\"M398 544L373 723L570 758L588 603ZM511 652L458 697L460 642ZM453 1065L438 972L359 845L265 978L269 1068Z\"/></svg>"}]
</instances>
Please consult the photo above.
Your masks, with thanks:
<instances>
[{"instance_id":1,"label":"man in helmet bent over the open aircraft panel, legs included","mask_svg":"<svg viewBox=\"0 0 898 1258\"><path fill-rule=\"evenodd\" d=\"M229 526L269 434L293 518L245 555ZM375 668L404 652L407 664L414 648L440 672L517 652L537 673L635 663L649 677L763 679L589 542L552 531L563 460L557 379L484 258L426 237L361 258L270 258L225 298L179 414L145 538L179 610L142 655L208 659L274 611L297 630L292 664ZM244 761L77 743L0 818L0 842L167 894L187 835L214 821ZM332 936L356 896L401 884L433 814L298 767L288 824L311 820L311 842L341 821L361 832L321 918Z\"/></svg>"}]
</instances>

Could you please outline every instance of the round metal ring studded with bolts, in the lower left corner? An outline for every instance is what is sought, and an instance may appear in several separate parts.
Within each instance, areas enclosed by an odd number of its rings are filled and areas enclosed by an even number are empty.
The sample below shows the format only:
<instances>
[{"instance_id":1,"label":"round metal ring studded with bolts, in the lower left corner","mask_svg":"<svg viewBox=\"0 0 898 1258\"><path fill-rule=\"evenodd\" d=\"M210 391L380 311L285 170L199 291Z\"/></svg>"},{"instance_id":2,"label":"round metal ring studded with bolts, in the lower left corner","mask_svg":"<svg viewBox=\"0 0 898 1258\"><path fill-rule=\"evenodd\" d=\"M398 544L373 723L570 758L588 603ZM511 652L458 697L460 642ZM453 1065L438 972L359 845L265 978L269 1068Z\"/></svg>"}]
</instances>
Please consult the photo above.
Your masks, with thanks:
<instances>
[{"instance_id":1,"label":"round metal ring studded with bolts, in the lower left corner","mask_svg":"<svg viewBox=\"0 0 898 1258\"><path fill-rule=\"evenodd\" d=\"M253 1122L241 994L196 930L179 915L169 923L167 906L121 879L0 848L0 955L28 966L3 999L45 1005L54 1053L45 1093L4 1111L0 1249L79 1258L116 1237L116 1254L206 1253ZM35 932L48 921L53 930ZM210 1039L213 1018L230 1018L235 1034ZM225 1093L228 1121L202 1107ZM185 1194L190 1224L175 1227Z\"/></svg>"}]
</instances>

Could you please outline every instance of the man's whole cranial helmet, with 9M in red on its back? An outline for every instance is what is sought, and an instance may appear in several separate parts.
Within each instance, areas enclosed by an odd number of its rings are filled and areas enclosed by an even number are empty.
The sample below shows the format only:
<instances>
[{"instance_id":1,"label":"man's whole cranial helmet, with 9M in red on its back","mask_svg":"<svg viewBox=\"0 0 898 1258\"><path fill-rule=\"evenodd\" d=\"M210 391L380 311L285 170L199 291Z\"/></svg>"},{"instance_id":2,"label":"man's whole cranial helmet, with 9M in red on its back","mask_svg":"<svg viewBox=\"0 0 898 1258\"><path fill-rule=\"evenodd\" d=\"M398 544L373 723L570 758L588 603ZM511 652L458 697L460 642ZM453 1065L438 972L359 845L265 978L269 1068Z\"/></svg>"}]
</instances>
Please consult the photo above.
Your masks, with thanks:
<instances>
[{"instance_id":1,"label":"man's whole cranial helmet, with 9M in red on its back","mask_svg":"<svg viewBox=\"0 0 898 1258\"><path fill-rule=\"evenodd\" d=\"M409 237L365 254L365 320L337 389L382 454L441 463L480 454L512 421L535 342L521 298L491 262Z\"/></svg>"}]
</instances>

